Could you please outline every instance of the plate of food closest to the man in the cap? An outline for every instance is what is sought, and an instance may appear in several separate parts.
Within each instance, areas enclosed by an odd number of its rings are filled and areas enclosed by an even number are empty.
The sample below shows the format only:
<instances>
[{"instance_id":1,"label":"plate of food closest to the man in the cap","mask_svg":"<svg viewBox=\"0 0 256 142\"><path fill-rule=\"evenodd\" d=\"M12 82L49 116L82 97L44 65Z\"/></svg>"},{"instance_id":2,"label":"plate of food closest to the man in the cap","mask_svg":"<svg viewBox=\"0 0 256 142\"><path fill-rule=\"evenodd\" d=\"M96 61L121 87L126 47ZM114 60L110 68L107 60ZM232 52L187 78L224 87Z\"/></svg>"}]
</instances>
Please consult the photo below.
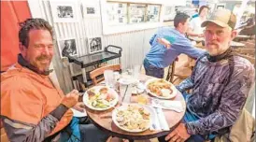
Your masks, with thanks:
<instances>
[{"instance_id":1,"label":"plate of food closest to the man in the cap","mask_svg":"<svg viewBox=\"0 0 256 142\"><path fill-rule=\"evenodd\" d=\"M176 87L163 78L150 78L145 86L148 93L161 99L171 99L177 94Z\"/></svg>"}]
</instances>

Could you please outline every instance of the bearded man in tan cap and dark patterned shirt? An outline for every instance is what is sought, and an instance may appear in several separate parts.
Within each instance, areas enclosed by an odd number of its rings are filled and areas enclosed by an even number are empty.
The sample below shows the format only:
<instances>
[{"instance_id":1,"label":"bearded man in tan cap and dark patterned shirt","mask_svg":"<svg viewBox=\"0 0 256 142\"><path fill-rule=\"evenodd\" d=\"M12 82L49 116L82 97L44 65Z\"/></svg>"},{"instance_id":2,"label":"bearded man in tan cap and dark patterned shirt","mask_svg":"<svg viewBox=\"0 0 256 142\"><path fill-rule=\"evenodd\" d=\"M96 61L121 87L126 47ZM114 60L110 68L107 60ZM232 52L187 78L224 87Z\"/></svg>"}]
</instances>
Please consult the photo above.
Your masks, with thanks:
<instances>
[{"instance_id":1,"label":"bearded man in tan cap and dark patterned shirt","mask_svg":"<svg viewBox=\"0 0 256 142\"><path fill-rule=\"evenodd\" d=\"M245 105L254 82L254 66L233 52L236 18L228 9L218 9L202 23L206 27L206 54L198 58L192 76L178 90L187 108L183 122L159 141L203 142L229 133ZM192 89L192 94L185 91Z\"/></svg>"}]
</instances>

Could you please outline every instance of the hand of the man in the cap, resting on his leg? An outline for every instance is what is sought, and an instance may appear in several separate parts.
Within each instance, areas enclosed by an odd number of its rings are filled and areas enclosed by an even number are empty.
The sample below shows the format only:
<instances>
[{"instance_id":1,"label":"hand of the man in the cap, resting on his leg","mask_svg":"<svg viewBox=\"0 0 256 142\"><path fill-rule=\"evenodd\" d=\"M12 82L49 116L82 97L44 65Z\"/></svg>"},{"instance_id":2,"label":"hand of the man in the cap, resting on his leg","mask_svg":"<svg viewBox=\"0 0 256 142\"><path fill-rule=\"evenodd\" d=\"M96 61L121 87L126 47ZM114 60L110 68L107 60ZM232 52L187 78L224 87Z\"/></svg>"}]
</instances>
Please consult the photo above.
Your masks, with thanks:
<instances>
[{"instance_id":1,"label":"hand of the man in the cap, resting on his leg","mask_svg":"<svg viewBox=\"0 0 256 142\"><path fill-rule=\"evenodd\" d=\"M168 142L183 142L191 135L188 134L184 123L179 123L178 127L165 137Z\"/></svg>"}]
</instances>

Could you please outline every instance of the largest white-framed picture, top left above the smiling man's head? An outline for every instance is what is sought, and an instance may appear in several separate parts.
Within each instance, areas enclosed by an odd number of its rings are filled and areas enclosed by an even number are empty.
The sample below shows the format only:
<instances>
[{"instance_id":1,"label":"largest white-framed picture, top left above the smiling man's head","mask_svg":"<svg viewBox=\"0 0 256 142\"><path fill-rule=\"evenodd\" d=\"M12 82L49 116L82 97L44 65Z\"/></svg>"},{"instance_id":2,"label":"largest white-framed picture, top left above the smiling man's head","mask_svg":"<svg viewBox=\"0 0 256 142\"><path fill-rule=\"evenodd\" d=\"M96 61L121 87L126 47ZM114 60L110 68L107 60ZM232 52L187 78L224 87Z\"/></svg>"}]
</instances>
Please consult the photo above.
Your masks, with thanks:
<instances>
[{"instance_id":1,"label":"largest white-framed picture, top left above the smiling man's head","mask_svg":"<svg viewBox=\"0 0 256 142\"><path fill-rule=\"evenodd\" d=\"M78 22L78 3L76 1L50 1L54 22Z\"/></svg>"}]
</instances>

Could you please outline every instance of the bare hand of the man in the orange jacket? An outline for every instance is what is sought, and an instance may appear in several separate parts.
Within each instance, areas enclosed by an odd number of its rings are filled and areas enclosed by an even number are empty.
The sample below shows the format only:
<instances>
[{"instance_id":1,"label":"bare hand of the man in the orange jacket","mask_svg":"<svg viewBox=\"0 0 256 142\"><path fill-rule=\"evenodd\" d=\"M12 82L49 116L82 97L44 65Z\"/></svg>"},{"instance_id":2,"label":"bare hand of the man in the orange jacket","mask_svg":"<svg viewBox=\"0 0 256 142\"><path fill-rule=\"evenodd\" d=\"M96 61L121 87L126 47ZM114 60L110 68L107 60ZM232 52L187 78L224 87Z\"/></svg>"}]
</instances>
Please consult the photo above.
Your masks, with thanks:
<instances>
[{"instance_id":1,"label":"bare hand of the man in the orange jacket","mask_svg":"<svg viewBox=\"0 0 256 142\"><path fill-rule=\"evenodd\" d=\"M79 92L77 90L73 90L64 96L62 104L68 108L74 107L76 104L78 104L78 96Z\"/></svg>"}]
</instances>

